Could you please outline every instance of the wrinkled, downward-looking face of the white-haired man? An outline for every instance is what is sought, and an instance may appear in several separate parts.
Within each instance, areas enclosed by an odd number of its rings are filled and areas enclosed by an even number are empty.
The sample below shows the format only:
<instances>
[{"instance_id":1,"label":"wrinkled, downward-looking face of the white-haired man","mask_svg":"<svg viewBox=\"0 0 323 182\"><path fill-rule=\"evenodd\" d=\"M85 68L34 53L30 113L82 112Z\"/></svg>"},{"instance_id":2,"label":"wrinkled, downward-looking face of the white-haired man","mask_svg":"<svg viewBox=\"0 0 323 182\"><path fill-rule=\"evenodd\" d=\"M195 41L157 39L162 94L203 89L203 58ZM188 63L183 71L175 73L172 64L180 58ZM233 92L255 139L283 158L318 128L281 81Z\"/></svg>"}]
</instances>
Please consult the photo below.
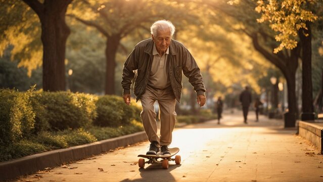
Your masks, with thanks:
<instances>
[{"instance_id":1,"label":"wrinkled, downward-looking face of the white-haired man","mask_svg":"<svg viewBox=\"0 0 323 182\"><path fill-rule=\"evenodd\" d=\"M170 30L158 30L157 36L152 35L153 41L156 44L156 50L160 55L163 55L169 47L171 35Z\"/></svg>"}]
</instances>

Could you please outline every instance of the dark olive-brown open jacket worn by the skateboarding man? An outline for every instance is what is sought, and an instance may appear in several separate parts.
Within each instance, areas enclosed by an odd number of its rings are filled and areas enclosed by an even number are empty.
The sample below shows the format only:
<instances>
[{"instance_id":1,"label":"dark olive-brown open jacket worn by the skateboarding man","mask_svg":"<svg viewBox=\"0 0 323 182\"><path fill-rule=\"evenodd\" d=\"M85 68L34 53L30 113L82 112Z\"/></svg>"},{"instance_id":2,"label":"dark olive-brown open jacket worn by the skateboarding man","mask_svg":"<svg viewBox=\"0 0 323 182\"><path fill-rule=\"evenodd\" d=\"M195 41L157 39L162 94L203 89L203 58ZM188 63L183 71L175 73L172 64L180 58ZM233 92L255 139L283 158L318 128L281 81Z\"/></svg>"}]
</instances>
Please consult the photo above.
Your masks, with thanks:
<instances>
[{"instance_id":1,"label":"dark olive-brown open jacket worn by the skateboarding man","mask_svg":"<svg viewBox=\"0 0 323 182\"><path fill-rule=\"evenodd\" d=\"M154 41L150 38L135 45L123 65L122 81L123 94L130 94L131 80L136 74L134 82L134 95L136 101L145 93L153 61ZM204 95L205 87L200 68L191 53L184 45L176 40L171 40L169 55L167 56L168 74L175 98L180 102L182 89L182 73L189 78L197 95Z\"/></svg>"}]
</instances>

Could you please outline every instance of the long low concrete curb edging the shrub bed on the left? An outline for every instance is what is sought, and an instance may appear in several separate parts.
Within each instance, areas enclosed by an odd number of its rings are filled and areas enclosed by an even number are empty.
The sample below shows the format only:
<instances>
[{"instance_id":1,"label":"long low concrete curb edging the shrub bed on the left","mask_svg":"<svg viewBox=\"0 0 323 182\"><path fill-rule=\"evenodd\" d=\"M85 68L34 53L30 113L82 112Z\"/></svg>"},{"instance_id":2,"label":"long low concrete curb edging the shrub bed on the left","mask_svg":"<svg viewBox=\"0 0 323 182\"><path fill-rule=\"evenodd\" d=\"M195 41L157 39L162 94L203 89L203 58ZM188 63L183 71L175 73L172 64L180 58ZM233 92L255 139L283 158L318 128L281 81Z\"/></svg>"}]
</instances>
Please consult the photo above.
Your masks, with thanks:
<instances>
[{"instance_id":1,"label":"long low concrete curb edging the shrub bed on the left","mask_svg":"<svg viewBox=\"0 0 323 182\"><path fill-rule=\"evenodd\" d=\"M42 170L45 167L54 167L64 162L83 159L91 155L100 154L118 147L125 147L145 140L147 140L147 135L145 131L141 131L91 144L59 149L11 161L0 162L0 180L13 179L20 175Z\"/></svg>"}]
</instances>

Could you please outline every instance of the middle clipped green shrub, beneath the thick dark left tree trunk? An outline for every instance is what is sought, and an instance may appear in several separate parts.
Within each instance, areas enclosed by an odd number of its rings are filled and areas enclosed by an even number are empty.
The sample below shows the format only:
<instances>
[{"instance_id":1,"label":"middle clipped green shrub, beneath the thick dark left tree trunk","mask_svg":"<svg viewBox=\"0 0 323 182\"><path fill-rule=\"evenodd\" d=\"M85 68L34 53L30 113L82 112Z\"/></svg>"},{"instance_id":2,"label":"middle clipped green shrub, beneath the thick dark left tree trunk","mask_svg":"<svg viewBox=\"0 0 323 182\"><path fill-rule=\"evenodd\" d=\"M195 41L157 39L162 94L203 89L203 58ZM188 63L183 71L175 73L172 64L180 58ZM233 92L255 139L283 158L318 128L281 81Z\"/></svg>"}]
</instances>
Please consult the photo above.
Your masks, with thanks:
<instances>
[{"instance_id":1,"label":"middle clipped green shrub, beneath the thick dark left tree trunk","mask_svg":"<svg viewBox=\"0 0 323 182\"><path fill-rule=\"evenodd\" d=\"M36 132L87 127L97 116L97 97L89 94L39 91L31 100L36 113Z\"/></svg>"}]
</instances>

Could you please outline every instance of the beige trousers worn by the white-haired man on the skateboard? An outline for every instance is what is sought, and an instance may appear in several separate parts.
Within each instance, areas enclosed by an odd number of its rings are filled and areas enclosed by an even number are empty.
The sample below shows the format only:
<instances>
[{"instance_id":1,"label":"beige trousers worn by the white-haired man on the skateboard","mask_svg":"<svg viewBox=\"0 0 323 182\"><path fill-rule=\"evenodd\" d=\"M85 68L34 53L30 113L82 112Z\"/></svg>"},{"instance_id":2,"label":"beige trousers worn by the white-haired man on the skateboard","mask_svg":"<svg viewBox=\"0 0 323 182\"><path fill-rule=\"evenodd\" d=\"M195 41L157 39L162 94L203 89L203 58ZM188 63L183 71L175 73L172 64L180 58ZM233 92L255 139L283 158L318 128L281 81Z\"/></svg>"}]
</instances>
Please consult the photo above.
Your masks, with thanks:
<instances>
[{"instance_id":1,"label":"beige trousers worn by the white-haired man on the skateboard","mask_svg":"<svg viewBox=\"0 0 323 182\"><path fill-rule=\"evenodd\" d=\"M145 94L140 100L143 106L140 116L149 142L156 141L161 146L168 146L171 143L172 131L176 123L176 99L171 87L157 89L147 85ZM157 135L155 101L159 105L160 137Z\"/></svg>"}]
</instances>

